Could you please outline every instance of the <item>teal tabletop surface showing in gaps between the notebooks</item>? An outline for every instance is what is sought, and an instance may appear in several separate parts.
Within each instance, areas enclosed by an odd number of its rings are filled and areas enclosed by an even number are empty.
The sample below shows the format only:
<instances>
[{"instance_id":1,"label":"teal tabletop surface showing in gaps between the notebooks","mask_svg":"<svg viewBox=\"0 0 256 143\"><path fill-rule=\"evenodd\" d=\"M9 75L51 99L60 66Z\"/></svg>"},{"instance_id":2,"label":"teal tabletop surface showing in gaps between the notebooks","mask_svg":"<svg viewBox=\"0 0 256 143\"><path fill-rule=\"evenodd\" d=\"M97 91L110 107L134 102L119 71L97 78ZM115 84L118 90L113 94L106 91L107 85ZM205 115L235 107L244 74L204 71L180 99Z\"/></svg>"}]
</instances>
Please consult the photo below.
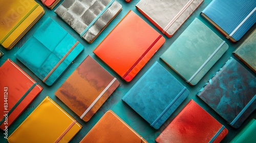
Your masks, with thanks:
<instances>
[{"instance_id":1,"label":"teal tabletop surface showing in gaps between the notebooks","mask_svg":"<svg viewBox=\"0 0 256 143\"><path fill-rule=\"evenodd\" d=\"M87 43L85 40L79 37L79 34L76 33L65 21L63 21L60 17L58 17L54 10L56 7L63 2L60 3L53 9L50 10L41 4L41 1L36 0L42 7L45 9L45 15L43 15L38 22L30 29L30 31L19 40L19 42L11 49L6 50L3 46L0 45L0 50L5 53L5 55L0 58L0 65L2 65L8 58L10 58L13 62L15 62L19 67L21 67L31 78L33 78L39 85L41 85L44 89L42 92L35 98L35 100L28 106L28 108L16 119L16 121L8 128L8 135L10 135L24 120L25 118L39 105L39 103L46 97L49 96L53 99L57 104L59 104L63 109L65 109L71 116L73 116L81 125L82 129L76 134L76 136L71 140L71 142L79 142L89 131L90 129L98 122L100 117L108 110L113 110L124 122L126 122L129 126L131 126L136 132L143 136L148 142L155 142L155 138L165 129L165 127L173 120L173 118L180 112L180 110L189 102L190 99L196 101L201 107L203 107L208 113L216 118L221 124L223 124L229 131L227 136L222 140L222 142L229 142L236 134L239 133L243 129L243 127L252 119L256 118L256 111L247 118L247 120L241 125L240 128L234 129L229 126L225 120L218 115L214 110L212 110L207 104L205 104L201 99L196 96L196 93L203 87L203 85L218 71L218 69L229 59L229 57L233 57L238 60L232 52L236 50L236 48L249 36L249 34L256 28L254 26L237 42L232 43L228 39L225 38L218 30L216 30L209 22L207 22L202 16L200 16L200 12L211 2L210 0L205 0L201 6L184 22L184 24L180 27L180 29L174 34L173 37L167 38L166 41L161 46L161 48L156 52L156 54L152 57L150 61L140 70L140 72L136 75L136 77L129 83L119 77L114 70L112 70L108 65L102 62L92 51L97 47L97 45L108 35L111 30L117 25L117 23L123 18L123 16L129 11L133 10L136 14L138 14L142 19L144 19L147 23L149 23L156 31L161 33L145 16L143 16L136 8L135 5L139 2L139 0L133 0L131 3L125 3L124 0L117 0L122 5L121 12L113 19L108 27L106 27L103 32L95 39L95 41L91 44ZM32 71L30 71L24 64L18 61L14 54L19 50L20 47L32 36L32 34L36 31L36 29L44 22L48 16L50 16L53 20L55 20L63 29L65 29L69 34L71 34L74 38L76 38L83 46L84 51L77 57L76 61L65 71L65 73L56 81L52 86L47 86L42 83L39 78L37 78ZM175 73L170 67L168 67L162 60L160 60L160 56L165 52L165 50L172 44L177 37L185 30L185 28L197 17L202 22L205 23L212 31L214 31L218 36L220 36L226 43L229 45L228 50L224 53L224 55L217 61L217 63L210 68L207 74L199 81L199 83L195 86L191 86L185 82L179 75ZM145 33L145 36L147 33ZM193 36L193 35L191 35ZM113 41L114 42L114 41ZM97 62L100 63L106 70L108 70L117 80L120 82L119 87L114 91L114 93L110 96L108 100L102 105L102 107L95 113L95 115L91 118L89 122L84 122L80 120L79 116L77 116L72 110L70 110L65 104L63 104L55 95L54 92L60 87L60 85L71 75L71 73L75 70L75 68L86 58L87 55L91 55ZM145 73L145 71L153 65L155 61L158 61L161 65L163 65L174 77L176 77L181 84L183 84L190 91L189 96L185 99L185 101L178 107L178 109L167 119L167 121L158 129L154 129L151 127L143 118L137 114L129 105L124 103L121 98L129 91L129 89L139 80L139 78ZM241 61L239 61L242 63ZM242 65L246 66L242 63ZM250 70L248 67L246 67ZM250 70L253 73L252 70ZM255 73L253 73L256 76ZM1 77L0 77L1 78ZM82 85L81 85L82 86ZM2 89L0 89L2 90ZM4 90L4 89L3 89ZM0 95L0 98L4 95ZM0 99L0 100L3 100ZM4 105L0 105L4 106ZM1 115L2 113L0 113ZM61 122L61 118L59 119ZM207 119L205 119L207 120ZM50 135L52 132L51 125L49 125ZM47 137L47 136L46 136ZM100 135L99 135L100 137ZM0 131L0 142L7 142L4 138L4 131Z\"/></svg>"}]
</instances>

